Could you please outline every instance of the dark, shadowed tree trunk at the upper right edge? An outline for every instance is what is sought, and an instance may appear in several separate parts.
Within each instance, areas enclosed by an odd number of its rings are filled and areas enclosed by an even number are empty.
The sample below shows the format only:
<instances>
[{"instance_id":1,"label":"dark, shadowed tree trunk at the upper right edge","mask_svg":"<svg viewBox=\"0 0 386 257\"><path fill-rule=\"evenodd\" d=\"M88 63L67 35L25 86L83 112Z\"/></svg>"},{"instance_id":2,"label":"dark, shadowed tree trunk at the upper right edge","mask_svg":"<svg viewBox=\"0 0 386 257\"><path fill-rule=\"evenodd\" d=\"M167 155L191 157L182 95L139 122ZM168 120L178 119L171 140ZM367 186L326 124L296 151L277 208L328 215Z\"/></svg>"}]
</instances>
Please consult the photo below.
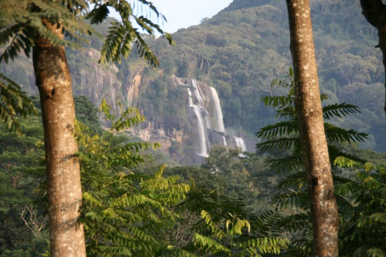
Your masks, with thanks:
<instances>
[{"instance_id":1,"label":"dark, shadowed tree trunk at the upper right edge","mask_svg":"<svg viewBox=\"0 0 386 257\"><path fill-rule=\"evenodd\" d=\"M378 46L382 51L382 63L385 69L385 84L386 88L386 6L381 0L360 0L362 14L369 24L374 26L378 31ZM386 114L386 91L385 103L383 108Z\"/></svg>"}]
</instances>

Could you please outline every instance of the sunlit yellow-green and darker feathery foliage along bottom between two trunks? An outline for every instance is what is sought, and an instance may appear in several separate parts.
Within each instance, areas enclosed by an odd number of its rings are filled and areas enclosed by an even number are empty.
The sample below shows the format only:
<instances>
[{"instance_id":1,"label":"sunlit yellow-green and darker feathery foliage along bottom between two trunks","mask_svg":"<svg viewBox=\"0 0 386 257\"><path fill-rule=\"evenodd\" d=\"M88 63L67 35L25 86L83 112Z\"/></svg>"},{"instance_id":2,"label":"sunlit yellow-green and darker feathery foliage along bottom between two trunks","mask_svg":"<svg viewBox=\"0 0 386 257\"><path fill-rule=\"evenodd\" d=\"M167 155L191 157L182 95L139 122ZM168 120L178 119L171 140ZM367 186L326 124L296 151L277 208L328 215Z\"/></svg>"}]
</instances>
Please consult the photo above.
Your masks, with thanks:
<instances>
[{"instance_id":1,"label":"sunlit yellow-green and darker feathery foliage along bottom between two trunks","mask_svg":"<svg viewBox=\"0 0 386 257\"><path fill-rule=\"evenodd\" d=\"M108 137L90 136L80 123L76 128L88 255L261 256L286 246L276 235L274 213L251 215L241 200L210 185L193 182L189 190L180 176L162 175L166 166L151 176L134 173L144 161L137 152L158 145L112 144L114 134L143 117L133 108L112 114L105 101L100 109L112 123Z\"/></svg>"}]
</instances>

